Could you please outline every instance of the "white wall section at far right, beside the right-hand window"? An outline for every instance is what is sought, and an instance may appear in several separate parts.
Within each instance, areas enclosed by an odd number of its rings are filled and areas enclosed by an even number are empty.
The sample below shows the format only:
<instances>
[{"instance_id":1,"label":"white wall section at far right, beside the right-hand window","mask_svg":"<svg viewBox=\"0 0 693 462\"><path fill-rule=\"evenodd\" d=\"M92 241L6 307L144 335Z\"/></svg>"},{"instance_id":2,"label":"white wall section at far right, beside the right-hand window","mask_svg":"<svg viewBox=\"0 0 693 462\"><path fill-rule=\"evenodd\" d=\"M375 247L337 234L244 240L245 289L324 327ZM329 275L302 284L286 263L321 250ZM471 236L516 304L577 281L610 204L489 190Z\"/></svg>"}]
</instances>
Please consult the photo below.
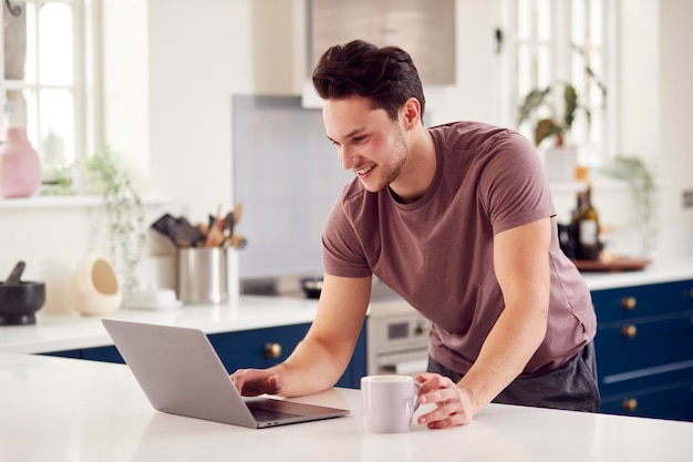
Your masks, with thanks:
<instances>
[{"instance_id":1,"label":"white wall section at far right, beside the right-hand window","mask_svg":"<svg viewBox=\"0 0 693 462\"><path fill-rule=\"evenodd\" d=\"M691 255L693 209L682 207L682 194L693 189L693 54L685 45L693 40L693 2L622 1L619 13L618 153L640 156L658 183L660 226L651 256ZM596 201L602 222L617 225L617 249L639 248L630 196L597 191Z\"/></svg>"}]
</instances>

